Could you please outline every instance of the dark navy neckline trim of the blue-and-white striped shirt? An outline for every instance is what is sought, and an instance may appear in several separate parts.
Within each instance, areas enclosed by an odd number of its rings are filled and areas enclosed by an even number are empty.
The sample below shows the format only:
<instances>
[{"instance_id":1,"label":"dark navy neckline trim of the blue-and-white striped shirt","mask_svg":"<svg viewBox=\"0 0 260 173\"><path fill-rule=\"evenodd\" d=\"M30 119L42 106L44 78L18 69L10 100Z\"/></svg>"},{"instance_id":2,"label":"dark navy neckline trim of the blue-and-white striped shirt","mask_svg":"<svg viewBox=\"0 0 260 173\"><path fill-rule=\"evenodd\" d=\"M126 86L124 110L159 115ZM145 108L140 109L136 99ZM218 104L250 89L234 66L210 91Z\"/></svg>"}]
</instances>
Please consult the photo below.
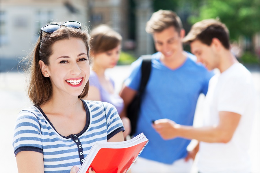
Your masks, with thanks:
<instances>
[{"instance_id":1,"label":"dark navy neckline trim of the blue-and-white striped shirt","mask_svg":"<svg viewBox=\"0 0 260 173\"><path fill-rule=\"evenodd\" d=\"M83 130L81 130L79 133L77 134L71 134L71 135L77 135L78 137L81 136L83 133L86 132L86 130L88 129L89 125L90 125L90 112L89 112L89 109L88 109L88 106L86 104L85 101L83 101L82 99L80 99L82 102L83 102L83 105L84 105L84 108L86 110L86 124L83 128ZM36 108L39 109L39 111L42 113L42 115L44 116L44 118L47 120L47 122L51 125L51 127L55 130L56 133L58 133L62 138L66 138L66 139L69 139L70 138L70 135L69 136L62 136L59 132L57 132L57 130L55 129L55 127L53 126L53 124L51 123L51 121L48 119L48 117L46 116L46 114L43 112L42 108L40 108L40 106L37 106L37 105L34 105Z\"/></svg>"}]
</instances>

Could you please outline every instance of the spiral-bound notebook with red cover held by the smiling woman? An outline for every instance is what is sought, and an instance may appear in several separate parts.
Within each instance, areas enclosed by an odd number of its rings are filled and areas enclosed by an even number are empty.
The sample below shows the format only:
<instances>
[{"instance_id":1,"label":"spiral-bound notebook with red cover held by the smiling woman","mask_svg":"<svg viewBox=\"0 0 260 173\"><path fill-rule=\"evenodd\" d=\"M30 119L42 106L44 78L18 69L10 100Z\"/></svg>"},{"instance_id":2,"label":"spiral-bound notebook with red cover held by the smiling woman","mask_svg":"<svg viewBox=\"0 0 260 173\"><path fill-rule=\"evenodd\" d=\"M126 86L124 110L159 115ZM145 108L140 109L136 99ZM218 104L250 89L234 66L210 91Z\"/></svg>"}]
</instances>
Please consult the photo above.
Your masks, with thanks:
<instances>
[{"instance_id":1,"label":"spiral-bound notebook with red cover held by the smiling woman","mask_svg":"<svg viewBox=\"0 0 260 173\"><path fill-rule=\"evenodd\" d=\"M127 173L147 143L143 133L123 142L97 142L78 173L88 173L90 167L98 173Z\"/></svg>"}]
</instances>

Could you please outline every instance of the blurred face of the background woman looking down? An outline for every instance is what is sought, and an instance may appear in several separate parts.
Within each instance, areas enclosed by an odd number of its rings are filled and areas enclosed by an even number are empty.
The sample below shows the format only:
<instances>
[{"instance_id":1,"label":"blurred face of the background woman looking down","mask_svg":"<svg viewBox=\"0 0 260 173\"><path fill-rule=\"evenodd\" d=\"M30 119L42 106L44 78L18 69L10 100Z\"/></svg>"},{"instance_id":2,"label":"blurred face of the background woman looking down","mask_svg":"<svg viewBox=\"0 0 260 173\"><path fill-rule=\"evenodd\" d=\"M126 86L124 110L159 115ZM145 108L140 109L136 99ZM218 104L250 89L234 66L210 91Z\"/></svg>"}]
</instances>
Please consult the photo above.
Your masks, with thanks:
<instances>
[{"instance_id":1,"label":"blurred face of the background woman looking down","mask_svg":"<svg viewBox=\"0 0 260 173\"><path fill-rule=\"evenodd\" d=\"M94 54L94 63L104 69L113 68L119 60L120 51L121 46L118 45L114 49Z\"/></svg>"}]
</instances>

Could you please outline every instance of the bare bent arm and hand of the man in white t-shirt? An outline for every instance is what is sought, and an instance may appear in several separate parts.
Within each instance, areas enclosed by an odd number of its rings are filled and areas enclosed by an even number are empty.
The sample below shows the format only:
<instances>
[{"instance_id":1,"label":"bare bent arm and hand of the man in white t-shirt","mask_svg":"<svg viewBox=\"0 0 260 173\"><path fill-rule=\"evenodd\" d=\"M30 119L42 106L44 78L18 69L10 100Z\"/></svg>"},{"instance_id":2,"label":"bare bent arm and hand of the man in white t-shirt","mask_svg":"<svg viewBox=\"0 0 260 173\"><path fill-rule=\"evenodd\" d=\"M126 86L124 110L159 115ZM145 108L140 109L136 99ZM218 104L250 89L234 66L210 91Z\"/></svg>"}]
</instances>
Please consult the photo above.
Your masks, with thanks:
<instances>
[{"instance_id":1,"label":"bare bent arm and hand of the man in white t-shirt","mask_svg":"<svg viewBox=\"0 0 260 173\"><path fill-rule=\"evenodd\" d=\"M182 137L203 142L229 142L237 128L241 115L234 112L219 112L218 125L209 127L192 127L176 124L169 119L155 121L153 127L164 139Z\"/></svg>"}]
</instances>

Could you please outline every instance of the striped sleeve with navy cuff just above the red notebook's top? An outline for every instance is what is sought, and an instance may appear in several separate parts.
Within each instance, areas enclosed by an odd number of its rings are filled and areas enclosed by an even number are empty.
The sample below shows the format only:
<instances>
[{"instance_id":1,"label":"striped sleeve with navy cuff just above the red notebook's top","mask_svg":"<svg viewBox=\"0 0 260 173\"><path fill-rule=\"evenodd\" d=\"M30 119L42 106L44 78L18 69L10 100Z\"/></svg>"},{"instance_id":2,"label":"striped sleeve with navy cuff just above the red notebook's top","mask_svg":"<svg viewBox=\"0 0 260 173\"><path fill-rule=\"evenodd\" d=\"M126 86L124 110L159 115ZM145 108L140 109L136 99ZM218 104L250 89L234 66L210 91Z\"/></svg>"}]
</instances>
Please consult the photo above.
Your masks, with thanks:
<instances>
[{"instance_id":1,"label":"striped sleeve with navy cuff just above the red notebook's top","mask_svg":"<svg viewBox=\"0 0 260 173\"><path fill-rule=\"evenodd\" d=\"M123 123L117 113L115 106L110 103L103 102L107 119L107 140L112 138L120 131L125 131Z\"/></svg>"}]
</instances>

